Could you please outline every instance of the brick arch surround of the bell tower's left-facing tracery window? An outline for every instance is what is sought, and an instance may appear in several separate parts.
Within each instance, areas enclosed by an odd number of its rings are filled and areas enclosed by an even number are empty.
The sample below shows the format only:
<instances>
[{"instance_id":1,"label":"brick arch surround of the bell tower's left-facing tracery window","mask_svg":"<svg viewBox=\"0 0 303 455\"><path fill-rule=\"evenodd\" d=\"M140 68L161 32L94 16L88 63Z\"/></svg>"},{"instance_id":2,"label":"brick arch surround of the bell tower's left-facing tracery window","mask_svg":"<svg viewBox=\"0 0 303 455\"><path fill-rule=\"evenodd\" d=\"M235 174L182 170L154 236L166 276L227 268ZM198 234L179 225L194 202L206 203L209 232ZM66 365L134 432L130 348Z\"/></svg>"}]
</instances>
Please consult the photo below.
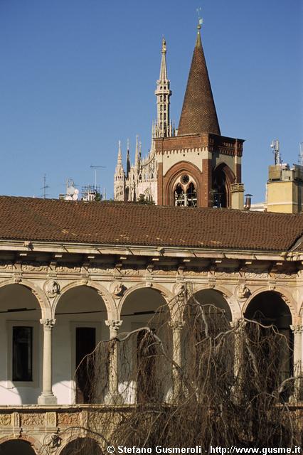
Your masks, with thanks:
<instances>
[{"instance_id":1,"label":"brick arch surround of the bell tower's left-facing tracery window","mask_svg":"<svg viewBox=\"0 0 303 455\"><path fill-rule=\"evenodd\" d=\"M201 176L202 173L198 167L189 161L181 161L180 163L172 166L164 176L164 204L174 205L174 183L182 173L190 174L196 182L196 190L198 193L198 207L201 206L202 200L202 188L201 188Z\"/></svg>"}]
</instances>

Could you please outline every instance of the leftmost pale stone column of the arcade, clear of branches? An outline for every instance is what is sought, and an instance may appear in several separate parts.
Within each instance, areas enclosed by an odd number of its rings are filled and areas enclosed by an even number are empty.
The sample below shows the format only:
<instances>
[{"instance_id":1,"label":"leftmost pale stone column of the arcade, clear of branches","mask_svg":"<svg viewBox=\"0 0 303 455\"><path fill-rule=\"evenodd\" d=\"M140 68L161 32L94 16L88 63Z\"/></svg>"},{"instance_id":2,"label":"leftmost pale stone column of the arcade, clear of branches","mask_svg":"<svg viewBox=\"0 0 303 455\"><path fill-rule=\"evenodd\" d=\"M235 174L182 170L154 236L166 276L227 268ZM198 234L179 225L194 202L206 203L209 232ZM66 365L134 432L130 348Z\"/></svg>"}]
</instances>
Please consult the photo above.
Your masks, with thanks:
<instances>
[{"instance_id":1,"label":"leftmost pale stone column of the arcade, clear of branches","mask_svg":"<svg viewBox=\"0 0 303 455\"><path fill-rule=\"evenodd\" d=\"M43 382L38 405L56 405L57 397L53 395L52 385L52 330L55 319L40 319L43 324Z\"/></svg>"}]
</instances>

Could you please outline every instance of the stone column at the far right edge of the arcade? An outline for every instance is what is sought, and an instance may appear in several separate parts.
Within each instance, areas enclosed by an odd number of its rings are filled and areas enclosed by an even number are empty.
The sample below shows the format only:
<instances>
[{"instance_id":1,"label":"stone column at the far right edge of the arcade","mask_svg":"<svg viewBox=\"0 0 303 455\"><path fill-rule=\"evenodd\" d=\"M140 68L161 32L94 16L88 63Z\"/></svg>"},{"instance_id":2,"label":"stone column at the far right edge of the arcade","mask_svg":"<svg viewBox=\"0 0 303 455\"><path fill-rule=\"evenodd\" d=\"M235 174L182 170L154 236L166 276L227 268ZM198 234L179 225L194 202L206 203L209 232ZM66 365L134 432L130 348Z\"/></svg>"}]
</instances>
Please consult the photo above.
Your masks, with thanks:
<instances>
[{"instance_id":1,"label":"stone column at the far right edge of the arcade","mask_svg":"<svg viewBox=\"0 0 303 455\"><path fill-rule=\"evenodd\" d=\"M294 400L300 400L303 394L302 380L302 333L303 324L300 318L290 326L294 333Z\"/></svg>"}]
</instances>

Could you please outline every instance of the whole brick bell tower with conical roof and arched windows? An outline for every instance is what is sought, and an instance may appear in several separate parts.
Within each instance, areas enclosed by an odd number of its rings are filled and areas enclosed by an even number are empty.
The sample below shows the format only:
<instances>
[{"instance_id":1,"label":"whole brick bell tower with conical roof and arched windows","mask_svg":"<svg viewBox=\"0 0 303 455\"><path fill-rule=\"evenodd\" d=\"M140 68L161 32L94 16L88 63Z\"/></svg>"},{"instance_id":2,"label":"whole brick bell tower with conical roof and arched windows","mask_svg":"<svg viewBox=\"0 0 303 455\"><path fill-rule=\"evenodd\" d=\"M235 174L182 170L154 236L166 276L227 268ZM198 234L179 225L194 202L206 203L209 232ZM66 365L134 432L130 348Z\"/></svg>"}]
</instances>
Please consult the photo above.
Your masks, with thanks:
<instances>
[{"instance_id":1,"label":"whole brick bell tower with conical roof and arched windows","mask_svg":"<svg viewBox=\"0 0 303 455\"><path fill-rule=\"evenodd\" d=\"M198 25L175 136L154 137L157 203L243 208L243 139L222 136Z\"/></svg>"}]
</instances>

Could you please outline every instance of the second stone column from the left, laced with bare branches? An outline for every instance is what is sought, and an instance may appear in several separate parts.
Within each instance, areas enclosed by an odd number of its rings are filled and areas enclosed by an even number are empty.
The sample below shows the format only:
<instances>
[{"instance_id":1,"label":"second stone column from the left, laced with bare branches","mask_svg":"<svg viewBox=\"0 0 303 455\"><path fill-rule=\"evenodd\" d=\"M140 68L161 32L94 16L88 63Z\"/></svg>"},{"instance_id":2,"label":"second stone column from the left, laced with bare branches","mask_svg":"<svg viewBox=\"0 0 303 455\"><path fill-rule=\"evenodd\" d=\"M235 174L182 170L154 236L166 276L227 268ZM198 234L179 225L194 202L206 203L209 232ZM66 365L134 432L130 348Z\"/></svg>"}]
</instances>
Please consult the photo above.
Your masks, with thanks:
<instances>
[{"instance_id":1,"label":"second stone column from the left, laced with bare branches","mask_svg":"<svg viewBox=\"0 0 303 455\"><path fill-rule=\"evenodd\" d=\"M113 340L117 337L119 327L122 324L122 321L105 321L106 325L110 328L110 339ZM107 401L110 401L112 404L121 402L121 397L119 396L119 378L118 378L118 369L119 369L119 359L118 359L118 343L117 341L112 341L112 352L110 353L110 377L109 377L109 397Z\"/></svg>"}]
</instances>

